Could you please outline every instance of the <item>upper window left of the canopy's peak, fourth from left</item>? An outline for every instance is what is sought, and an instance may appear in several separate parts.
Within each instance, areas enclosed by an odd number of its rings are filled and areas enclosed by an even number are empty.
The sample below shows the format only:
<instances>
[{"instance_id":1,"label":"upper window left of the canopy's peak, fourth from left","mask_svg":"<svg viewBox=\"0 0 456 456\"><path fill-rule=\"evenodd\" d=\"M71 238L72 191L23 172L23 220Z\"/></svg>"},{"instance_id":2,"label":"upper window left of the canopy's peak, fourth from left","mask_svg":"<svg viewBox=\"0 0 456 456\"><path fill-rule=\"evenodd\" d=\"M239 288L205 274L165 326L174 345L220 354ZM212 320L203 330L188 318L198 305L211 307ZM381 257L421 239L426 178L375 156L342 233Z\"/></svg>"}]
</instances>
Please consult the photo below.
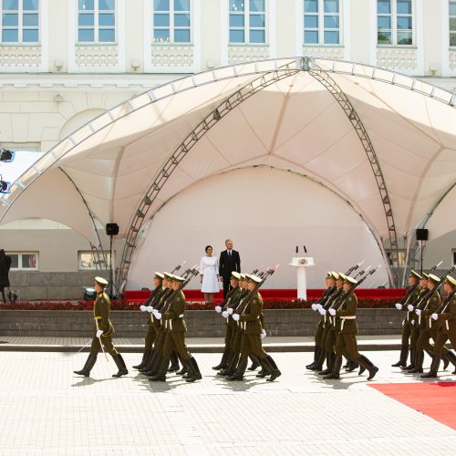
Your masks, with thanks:
<instances>
[{"instance_id":1,"label":"upper window left of the canopy's peak, fourth from left","mask_svg":"<svg viewBox=\"0 0 456 456\"><path fill-rule=\"evenodd\" d=\"M230 1L230 44L266 43L265 0Z\"/></svg>"}]
</instances>

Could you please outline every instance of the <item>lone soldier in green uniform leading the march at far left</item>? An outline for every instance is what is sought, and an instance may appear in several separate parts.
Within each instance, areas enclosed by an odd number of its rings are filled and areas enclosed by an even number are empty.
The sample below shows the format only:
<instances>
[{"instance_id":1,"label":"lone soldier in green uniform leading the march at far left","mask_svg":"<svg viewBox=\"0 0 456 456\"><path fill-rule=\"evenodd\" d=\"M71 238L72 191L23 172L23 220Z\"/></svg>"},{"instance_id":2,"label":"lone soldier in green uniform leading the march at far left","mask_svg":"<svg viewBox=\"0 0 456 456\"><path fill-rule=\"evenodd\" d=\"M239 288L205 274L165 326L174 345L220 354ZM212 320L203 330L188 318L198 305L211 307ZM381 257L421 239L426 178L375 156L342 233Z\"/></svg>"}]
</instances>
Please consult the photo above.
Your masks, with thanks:
<instances>
[{"instance_id":1,"label":"lone soldier in green uniform leading the march at far left","mask_svg":"<svg viewBox=\"0 0 456 456\"><path fill-rule=\"evenodd\" d=\"M103 277L95 277L95 291L97 292L97 298L93 306L93 316L95 320L95 336L92 339L92 345L90 346L90 353L84 368L81 370L75 370L75 374L83 375L88 377L90 370L95 366L97 361L98 353L102 350L114 359L117 368L119 369L117 374L112 377L121 377L127 375L129 371L125 366L125 361L112 345L112 335L114 334L114 326L109 320L109 309L110 301L109 295L104 290L108 282ZM102 347L101 347L102 346Z\"/></svg>"}]
</instances>

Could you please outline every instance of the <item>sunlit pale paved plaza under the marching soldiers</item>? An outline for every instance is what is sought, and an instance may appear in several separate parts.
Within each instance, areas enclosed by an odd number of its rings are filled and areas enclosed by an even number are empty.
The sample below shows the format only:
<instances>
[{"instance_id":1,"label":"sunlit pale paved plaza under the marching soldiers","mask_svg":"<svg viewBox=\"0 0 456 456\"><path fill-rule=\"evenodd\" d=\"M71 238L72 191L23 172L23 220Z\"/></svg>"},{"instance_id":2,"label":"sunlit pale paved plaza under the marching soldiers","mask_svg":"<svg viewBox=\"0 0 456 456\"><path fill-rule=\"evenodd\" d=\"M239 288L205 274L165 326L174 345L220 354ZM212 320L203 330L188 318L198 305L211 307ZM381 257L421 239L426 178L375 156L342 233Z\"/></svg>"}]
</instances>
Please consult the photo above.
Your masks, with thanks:
<instances>
[{"instance_id":1,"label":"sunlit pale paved plaza under the marching soldiers","mask_svg":"<svg viewBox=\"0 0 456 456\"><path fill-rule=\"evenodd\" d=\"M367 352L371 383L417 381L390 368L398 353ZM202 381L125 378L102 356L80 378L87 354L0 352L0 454L444 454L456 431L368 387L366 376L322 381L305 372L311 353L275 353L270 383L217 378L218 353L196 358ZM128 366L139 354L127 353ZM440 380L454 380L440 372Z\"/></svg>"}]
</instances>

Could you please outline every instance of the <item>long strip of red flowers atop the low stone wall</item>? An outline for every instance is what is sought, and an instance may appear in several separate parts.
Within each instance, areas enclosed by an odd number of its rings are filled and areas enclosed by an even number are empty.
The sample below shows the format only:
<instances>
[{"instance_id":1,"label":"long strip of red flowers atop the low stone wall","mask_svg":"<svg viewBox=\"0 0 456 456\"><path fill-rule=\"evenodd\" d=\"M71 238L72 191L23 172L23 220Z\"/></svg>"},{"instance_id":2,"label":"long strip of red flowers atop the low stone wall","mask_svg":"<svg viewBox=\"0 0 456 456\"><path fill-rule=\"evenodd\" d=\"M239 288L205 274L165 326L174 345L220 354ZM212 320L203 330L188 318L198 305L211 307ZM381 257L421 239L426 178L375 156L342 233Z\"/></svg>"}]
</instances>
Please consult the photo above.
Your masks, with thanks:
<instances>
[{"instance_id":1,"label":"long strip of red flowers atop the low stone wall","mask_svg":"<svg viewBox=\"0 0 456 456\"><path fill-rule=\"evenodd\" d=\"M397 299L358 299L359 308L392 308ZM310 308L316 299L264 299L265 309L300 309ZM213 310L216 304L203 301L187 303L186 310ZM139 310L140 303L128 303L123 299L111 301L112 310ZM92 310L93 301L18 301L14 304L0 304L0 310Z\"/></svg>"}]
</instances>

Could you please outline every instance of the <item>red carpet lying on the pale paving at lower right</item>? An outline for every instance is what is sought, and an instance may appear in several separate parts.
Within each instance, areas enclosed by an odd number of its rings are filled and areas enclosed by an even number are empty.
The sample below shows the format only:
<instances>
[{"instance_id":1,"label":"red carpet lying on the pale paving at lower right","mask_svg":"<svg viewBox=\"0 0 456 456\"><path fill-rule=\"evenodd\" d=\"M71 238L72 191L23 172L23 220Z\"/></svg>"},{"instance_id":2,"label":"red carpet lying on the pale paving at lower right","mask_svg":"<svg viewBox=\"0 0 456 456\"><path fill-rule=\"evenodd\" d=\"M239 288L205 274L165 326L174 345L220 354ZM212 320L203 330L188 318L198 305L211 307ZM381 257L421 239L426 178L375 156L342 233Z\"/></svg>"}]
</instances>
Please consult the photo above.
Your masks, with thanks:
<instances>
[{"instance_id":1,"label":"red carpet lying on the pale paving at lower right","mask_svg":"<svg viewBox=\"0 0 456 456\"><path fill-rule=\"evenodd\" d=\"M369 385L456 430L456 381Z\"/></svg>"}]
</instances>

